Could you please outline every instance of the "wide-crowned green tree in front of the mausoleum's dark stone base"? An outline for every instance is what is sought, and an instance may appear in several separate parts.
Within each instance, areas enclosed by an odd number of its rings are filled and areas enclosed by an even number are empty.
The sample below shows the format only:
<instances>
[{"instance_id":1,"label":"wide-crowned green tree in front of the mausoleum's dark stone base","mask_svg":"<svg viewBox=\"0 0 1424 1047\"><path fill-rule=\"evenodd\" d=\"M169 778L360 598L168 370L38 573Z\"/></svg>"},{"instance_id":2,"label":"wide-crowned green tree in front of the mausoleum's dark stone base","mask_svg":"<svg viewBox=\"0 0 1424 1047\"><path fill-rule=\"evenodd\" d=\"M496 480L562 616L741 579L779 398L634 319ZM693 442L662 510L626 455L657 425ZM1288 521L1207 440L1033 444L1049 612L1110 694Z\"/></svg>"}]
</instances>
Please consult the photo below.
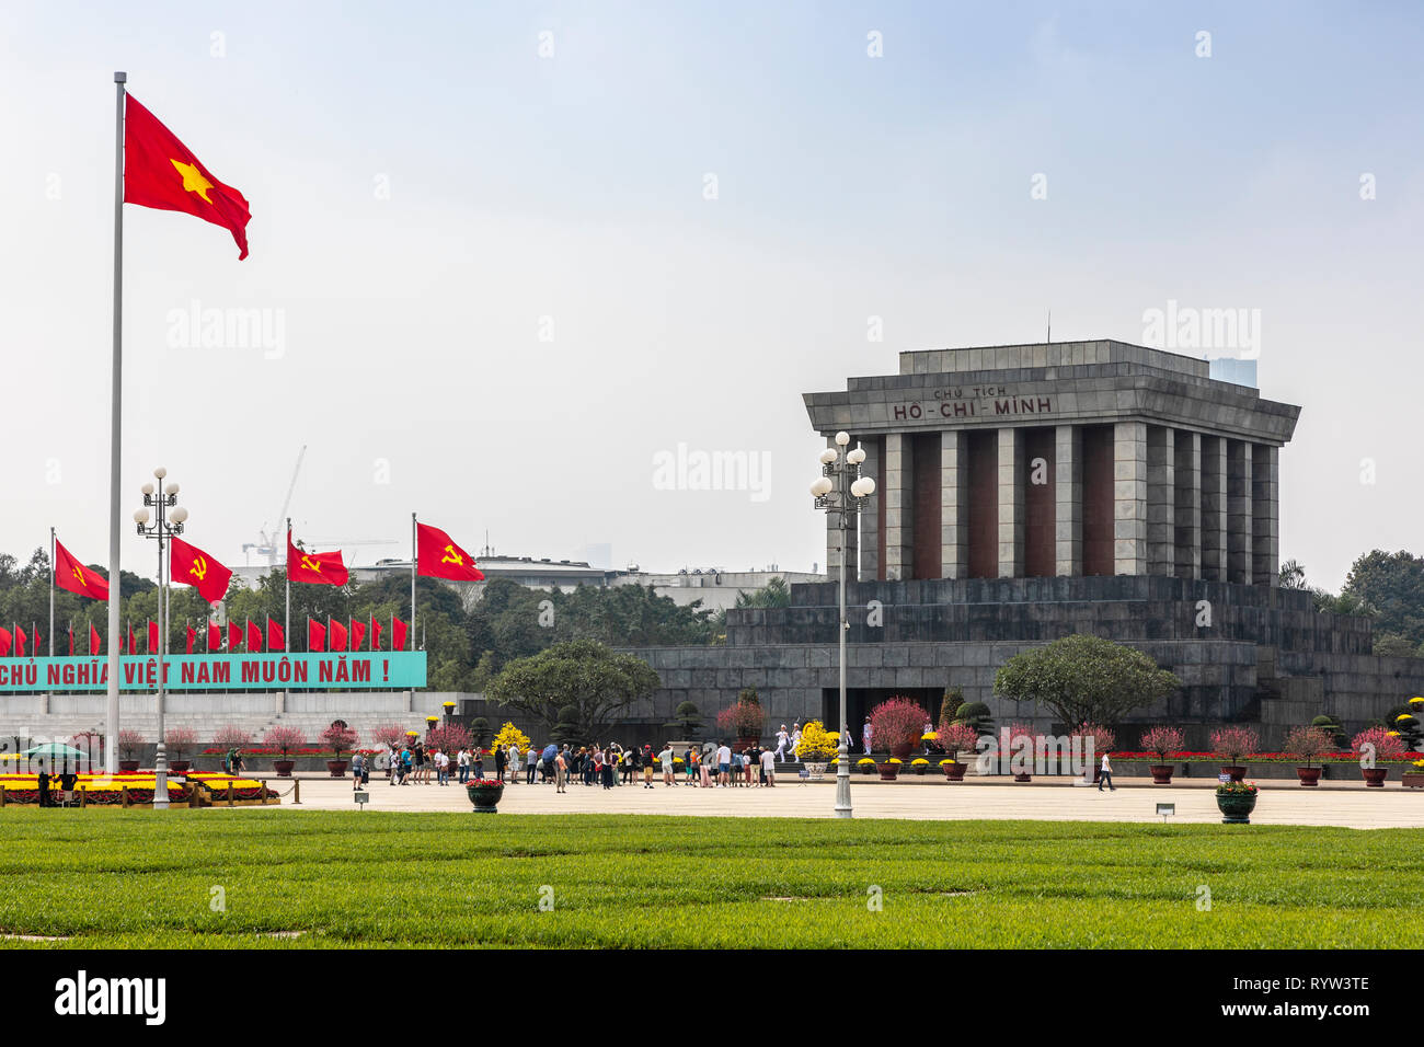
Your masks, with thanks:
<instances>
[{"instance_id":1,"label":"wide-crowned green tree in front of the mausoleum's dark stone base","mask_svg":"<svg viewBox=\"0 0 1424 1047\"><path fill-rule=\"evenodd\" d=\"M1087 634L1015 654L994 675L995 695L1040 702L1065 724L1115 724L1180 685L1142 651Z\"/></svg>"}]
</instances>

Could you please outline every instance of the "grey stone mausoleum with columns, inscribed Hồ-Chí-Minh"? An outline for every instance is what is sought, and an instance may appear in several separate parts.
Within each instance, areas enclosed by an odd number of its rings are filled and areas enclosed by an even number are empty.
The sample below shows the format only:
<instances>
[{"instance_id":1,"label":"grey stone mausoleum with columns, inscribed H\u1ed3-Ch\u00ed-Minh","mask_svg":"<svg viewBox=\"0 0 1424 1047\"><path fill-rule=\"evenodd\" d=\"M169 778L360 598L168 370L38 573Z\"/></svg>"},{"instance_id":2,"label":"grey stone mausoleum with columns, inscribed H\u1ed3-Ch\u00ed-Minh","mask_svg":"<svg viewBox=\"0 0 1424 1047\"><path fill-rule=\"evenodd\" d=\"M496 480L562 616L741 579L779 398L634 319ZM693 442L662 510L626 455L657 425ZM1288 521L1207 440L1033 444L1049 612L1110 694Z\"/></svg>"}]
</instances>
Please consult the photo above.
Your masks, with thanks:
<instances>
[{"instance_id":1,"label":"grey stone mausoleum with columns, inscribed H\u1ed3-Ch\u00ed-Minh","mask_svg":"<svg viewBox=\"0 0 1424 1047\"><path fill-rule=\"evenodd\" d=\"M852 724L893 694L937 714L951 687L1000 722L1034 719L993 697L994 672L1074 632L1172 670L1182 689L1135 719L1183 725L1190 748L1223 721L1257 724L1267 748L1320 714L1353 729L1424 691L1421 662L1370 654L1368 620L1277 587L1300 407L1206 360L1111 340L904 352L899 375L805 402L827 443L846 430L864 447L877 484L844 553ZM834 726L836 604L834 581L793 585L790 607L728 611L725 647L637 650L664 687L629 719L661 729L691 699L711 721L756 688L773 721Z\"/></svg>"}]
</instances>

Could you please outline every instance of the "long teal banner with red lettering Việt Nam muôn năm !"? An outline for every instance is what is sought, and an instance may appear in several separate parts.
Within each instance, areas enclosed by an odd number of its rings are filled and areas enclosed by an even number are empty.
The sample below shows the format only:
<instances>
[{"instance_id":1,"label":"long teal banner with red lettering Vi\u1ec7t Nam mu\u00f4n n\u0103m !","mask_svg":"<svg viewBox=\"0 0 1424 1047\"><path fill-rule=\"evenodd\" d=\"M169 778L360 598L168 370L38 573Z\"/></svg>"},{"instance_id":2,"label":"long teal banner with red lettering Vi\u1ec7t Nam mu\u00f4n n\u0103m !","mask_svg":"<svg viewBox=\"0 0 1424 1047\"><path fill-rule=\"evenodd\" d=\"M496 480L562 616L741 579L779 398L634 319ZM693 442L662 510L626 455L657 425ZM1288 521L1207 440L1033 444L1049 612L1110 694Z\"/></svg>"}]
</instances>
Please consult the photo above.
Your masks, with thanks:
<instances>
[{"instance_id":1,"label":"long teal banner with red lettering Vi\u1ec7t Nam mu\u00f4n n\u0103m !","mask_svg":"<svg viewBox=\"0 0 1424 1047\"><path fill-rule=\"evenodd\" d=\"M340 654L169 654L164 685L172 691L355 691L426 685L424 651ZM121 691L154 691L158 657L120 660ZM108 660L0 658L0 694L104 691Z\"/></svg>"}]
</instances>

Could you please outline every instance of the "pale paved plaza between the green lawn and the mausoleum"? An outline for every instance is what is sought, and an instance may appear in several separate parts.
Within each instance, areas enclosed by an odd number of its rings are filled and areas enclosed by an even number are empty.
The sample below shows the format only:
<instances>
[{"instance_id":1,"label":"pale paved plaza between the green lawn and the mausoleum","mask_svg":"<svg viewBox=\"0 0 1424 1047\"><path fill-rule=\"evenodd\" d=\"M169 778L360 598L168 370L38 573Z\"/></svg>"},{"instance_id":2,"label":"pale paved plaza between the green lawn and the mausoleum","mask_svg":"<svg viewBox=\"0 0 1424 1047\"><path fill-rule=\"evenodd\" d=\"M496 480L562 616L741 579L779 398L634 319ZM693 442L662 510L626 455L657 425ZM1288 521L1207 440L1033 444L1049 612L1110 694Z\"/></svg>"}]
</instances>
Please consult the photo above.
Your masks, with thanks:
<instances>
[{"instance_id":1,"label":"pale paved plaza between the green lawn and the mausoleum","mask_svg":"<svg viewBox=\"0 0 1424 1047\"><path fill-rule=\"evenodd\" d=\"M303 778L302 803L292 806L286 779L268 779L283 793L281 808L244 808L245 811L335 811L350 809L349 781ZM1027 783L991 783L965 781L951 785L938 779L879 782L862 776L852 779L852 802L857 818L913 819L1034 819L1049 822L1161 822L1158 803L1175 803L1180 822L1220 822L1213 792L1215 782L1153 786L1125 781L1116 792L1098 792L1040 779ZM370 782L370 811L470 811L464 789L451 783L387 785ZM836 799L834 781L802 785L796 779L773 789L702 789L686 785L652 789L621 785L605 791L598 786L570 785L557 793L553 785L508 785L500 812L510 815L709 815L735 818L832 818ZM1259 825L1339 825L1351 829L1424 826L1424 791L1404 789L1390 782L1384 789L1367 789L1356 782L1303 789L1294 782L1260 783L1260 799L1252 815Z\"/></svg>"}]
</instances>

